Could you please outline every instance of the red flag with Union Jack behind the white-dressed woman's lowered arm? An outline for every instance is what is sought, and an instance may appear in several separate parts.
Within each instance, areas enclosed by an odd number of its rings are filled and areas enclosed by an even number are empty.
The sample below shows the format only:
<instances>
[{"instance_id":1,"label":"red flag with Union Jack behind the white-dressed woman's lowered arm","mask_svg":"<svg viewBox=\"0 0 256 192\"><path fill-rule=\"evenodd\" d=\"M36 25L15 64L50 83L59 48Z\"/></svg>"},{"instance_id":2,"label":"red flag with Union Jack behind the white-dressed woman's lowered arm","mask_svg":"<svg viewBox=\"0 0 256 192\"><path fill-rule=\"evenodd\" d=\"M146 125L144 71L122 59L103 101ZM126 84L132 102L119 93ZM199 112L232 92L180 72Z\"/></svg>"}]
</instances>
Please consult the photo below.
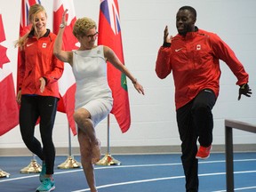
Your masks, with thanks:
<instances>
[{"instance_id":1,"label":"red flag with Union Jack behind the white-dressed woman's lowered arm","mask_svg":"<svg viewBox=\"0 0 256 192\"><path fill-rule=\"evenodd\" d=\"M123 44L120 27L119 8L117 0L100 0L98 44L107 45L124 63ZM111 113L121 131L127 132L131 125L130 104L126 76L108 63L108 84L114 98Z\"/></svg>"}]
</instances>

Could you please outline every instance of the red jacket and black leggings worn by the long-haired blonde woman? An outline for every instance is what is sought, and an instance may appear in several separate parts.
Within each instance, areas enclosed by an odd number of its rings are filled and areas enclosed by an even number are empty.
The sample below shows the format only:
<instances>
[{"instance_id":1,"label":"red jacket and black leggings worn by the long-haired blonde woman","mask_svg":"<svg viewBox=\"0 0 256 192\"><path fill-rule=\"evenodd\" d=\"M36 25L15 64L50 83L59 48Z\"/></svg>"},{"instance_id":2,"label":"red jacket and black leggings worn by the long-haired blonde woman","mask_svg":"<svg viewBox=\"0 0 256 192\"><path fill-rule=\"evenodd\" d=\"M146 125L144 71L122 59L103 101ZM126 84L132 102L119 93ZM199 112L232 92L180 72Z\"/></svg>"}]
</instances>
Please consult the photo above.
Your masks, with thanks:
<instances>
[{"instance_id":1,"label":"red jacket and black leggings worn by the long-haired blonde woman","mask_svg":"<svg viewBox=\"0 0 256 192\"><path fill-rule=\"evenodd\" d=\"M52 141L52 129L60 98L57 80L62 75L64 65L53 55L56 35L47 29L44 36L37 39L34 32L32 30L28 34L24 49L20 51L18 76L18 87L22 95L20 133L27 148L42 161L44 160L46 170L43 173L53 174L55 148ZM44 92L40 91L39 78L41 77L46 80ZM38 123L43 148L34 136L35 126Z\"/></svg>"}]
</instances>

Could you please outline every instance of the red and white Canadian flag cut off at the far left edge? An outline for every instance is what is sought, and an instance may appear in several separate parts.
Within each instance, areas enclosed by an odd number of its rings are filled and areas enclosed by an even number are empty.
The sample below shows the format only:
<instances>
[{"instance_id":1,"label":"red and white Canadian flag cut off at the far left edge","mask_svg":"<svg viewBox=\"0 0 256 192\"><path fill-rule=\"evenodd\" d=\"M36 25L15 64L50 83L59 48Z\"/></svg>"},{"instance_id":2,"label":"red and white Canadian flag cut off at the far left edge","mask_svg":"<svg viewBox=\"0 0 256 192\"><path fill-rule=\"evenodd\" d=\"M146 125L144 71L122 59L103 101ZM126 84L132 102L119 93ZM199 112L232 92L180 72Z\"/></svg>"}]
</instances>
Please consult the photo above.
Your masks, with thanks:
<instances>
[{"instance_id":1,"label":"red and white Canadian flag cut off at the far left edge","mask_svg":"<svg viewBox=\"0 0 256 192\"><path fill-rule=\"evenodd\" d=\"M4 65L10 62L6 55L7 49L1 45L4 40L4 24L0 14L0 136L19 124L19 108L15 98L12 72Z\"/></svg>"}]
</instances>

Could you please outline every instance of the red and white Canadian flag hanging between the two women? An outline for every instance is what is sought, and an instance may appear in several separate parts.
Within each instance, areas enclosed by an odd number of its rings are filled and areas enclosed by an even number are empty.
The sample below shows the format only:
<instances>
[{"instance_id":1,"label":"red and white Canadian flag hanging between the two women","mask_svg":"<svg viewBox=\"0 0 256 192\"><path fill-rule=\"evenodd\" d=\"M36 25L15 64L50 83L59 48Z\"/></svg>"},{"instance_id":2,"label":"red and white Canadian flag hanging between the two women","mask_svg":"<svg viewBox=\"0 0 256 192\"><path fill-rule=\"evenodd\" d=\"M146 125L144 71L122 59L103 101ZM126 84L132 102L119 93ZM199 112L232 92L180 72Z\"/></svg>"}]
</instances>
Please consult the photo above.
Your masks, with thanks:
<instances>
[{"instance_id":1,"label":"red and white Canadian flag hanging between the two women","mask_svg":"<svg viewBox=\"0 0 256 192\"><path fill-rule=\"evenodd\" d=\"M68 9L67 26L63 34L63 48L66 51L77 49L77 40L73 36L72 30L76 22L75 7L73 0L54 0L53 1L53 33L58 34L60 23L62 21L63 12ZM68 63L64 63L64 72L60 78L60 101L58 104L58 111L66 113L68 117L68 124L76 135L76 124L73 118L75 111L75 92L76 80L72 72L72 68Z\"/></svg>"}]
</instances>

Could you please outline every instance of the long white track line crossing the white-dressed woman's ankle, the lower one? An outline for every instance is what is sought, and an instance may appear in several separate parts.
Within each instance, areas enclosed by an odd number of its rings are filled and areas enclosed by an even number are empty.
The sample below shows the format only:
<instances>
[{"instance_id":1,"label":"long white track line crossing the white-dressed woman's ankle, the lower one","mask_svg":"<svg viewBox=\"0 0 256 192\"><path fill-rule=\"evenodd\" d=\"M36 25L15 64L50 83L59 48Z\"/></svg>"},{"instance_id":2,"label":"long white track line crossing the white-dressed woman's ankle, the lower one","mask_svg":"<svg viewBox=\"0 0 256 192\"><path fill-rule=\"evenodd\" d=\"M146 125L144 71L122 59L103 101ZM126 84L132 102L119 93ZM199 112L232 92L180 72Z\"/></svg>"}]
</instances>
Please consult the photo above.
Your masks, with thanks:
<instances>
[{"instance_id":1,"label":"long white track line crossing the white-dressed woman's ankle, the lower one","mask_svg":"<svg viewBox=\"0 0 256 192\"><path fill-rule=\"evenodd\" d=\"M244 174L244 173L254 173L255 171L244 171L244 172L234 172L234 174ZM215 176L215 175L225 175L226 172L214 172L214 173L204 173L204 174L199 174L199 177L207 177L207 176ZM164 177L164 178L156 178L156 179L150 179L150 180L133 180L133 181L128 181L128 182L120 182L120 183L112 183L108 185L102 185L97 187L97 189L100 188L111 188L115 186L123 186L123 185L130 185L130 184L135 184L135 183L142 183L142 182L153 182L153 181L158 181L158 180L176 180L176 179L181 179L185 178L185 176L174 176L174 177ZM84 188L84 189L79 189L71 192L84 192L84 191L90 191L90 188Z\"/></svg>"}]
</instances>

